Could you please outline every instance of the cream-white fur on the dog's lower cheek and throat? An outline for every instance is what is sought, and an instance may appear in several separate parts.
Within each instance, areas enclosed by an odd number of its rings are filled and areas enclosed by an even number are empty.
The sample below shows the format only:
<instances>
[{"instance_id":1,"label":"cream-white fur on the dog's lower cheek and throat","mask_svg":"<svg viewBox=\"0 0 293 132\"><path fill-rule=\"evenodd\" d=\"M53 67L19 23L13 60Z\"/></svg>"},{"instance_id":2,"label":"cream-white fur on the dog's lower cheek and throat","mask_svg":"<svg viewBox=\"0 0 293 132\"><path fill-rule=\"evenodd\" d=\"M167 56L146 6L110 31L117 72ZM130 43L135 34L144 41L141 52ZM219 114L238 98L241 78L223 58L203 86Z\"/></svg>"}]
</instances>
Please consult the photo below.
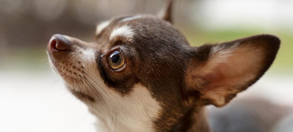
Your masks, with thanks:
<instances>
[{"instance_id":1,"label":"cream-white fur on the dog's lower cheek and throat","mask_svg":"<svg viewBox=\"0 0 293 132\"><path fill-rule=\"evenodd\" d=\"M135 85L130 95L121 97L113 90L107 90L110 99L105 99L111 116L101 102L88 104L89 110L98 118L97 131L153 131L155 117L160 105L147 88ZM106 91L106 92L107 92ZM115 104L115 105L113 105Z\"/></svg>"}]
</instances>

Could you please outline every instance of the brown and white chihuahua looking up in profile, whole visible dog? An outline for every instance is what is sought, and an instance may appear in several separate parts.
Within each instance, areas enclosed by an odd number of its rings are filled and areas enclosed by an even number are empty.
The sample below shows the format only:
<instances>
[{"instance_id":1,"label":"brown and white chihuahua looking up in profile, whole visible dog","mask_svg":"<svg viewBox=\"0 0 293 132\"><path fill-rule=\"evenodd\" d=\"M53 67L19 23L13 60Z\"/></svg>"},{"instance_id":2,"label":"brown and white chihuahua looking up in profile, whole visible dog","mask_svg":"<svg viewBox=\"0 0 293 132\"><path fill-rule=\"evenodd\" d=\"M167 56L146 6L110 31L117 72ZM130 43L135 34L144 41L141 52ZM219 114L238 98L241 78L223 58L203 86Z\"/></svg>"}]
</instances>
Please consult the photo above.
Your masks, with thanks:
<instances>
[{"instance_id":1,"label":"brown and white chihuahua looking up in profile, whole visible dog","mask_svg":"<svg viewBox=\"0 0 293 132\"><path fill-rule=\"evenodd\" d=\"M97 131L210 131L205 106L225 106L275 59L280 40L255 35L192 47L162 17L112 18L95 40L55 34L50 64L97 117Z\"/></svg>"}]
</instances>

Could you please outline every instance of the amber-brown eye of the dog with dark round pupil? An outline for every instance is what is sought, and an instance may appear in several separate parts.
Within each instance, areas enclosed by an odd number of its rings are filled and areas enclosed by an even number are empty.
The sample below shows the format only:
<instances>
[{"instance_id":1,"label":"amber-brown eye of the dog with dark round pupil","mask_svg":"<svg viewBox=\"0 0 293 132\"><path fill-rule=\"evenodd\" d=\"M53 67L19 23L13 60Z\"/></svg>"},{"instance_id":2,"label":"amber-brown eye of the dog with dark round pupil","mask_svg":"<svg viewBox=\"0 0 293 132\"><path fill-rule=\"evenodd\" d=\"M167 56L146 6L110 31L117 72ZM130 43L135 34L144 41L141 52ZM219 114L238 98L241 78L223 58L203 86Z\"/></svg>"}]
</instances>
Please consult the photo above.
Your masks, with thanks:
<instances>
[{"instance_id":1,"label":"amber-brown eye of the dog with dark round pupil","mask_svg":"<svg viewBox=\"0 0 293 132\"><path fill-rule=\"evenodd\" d=\"M108 64L111 69L115 71L121 71L126 67L124 57L120 54L119 51L114 51L111 53L108 59Z\"/></svg>"}]
</instances>

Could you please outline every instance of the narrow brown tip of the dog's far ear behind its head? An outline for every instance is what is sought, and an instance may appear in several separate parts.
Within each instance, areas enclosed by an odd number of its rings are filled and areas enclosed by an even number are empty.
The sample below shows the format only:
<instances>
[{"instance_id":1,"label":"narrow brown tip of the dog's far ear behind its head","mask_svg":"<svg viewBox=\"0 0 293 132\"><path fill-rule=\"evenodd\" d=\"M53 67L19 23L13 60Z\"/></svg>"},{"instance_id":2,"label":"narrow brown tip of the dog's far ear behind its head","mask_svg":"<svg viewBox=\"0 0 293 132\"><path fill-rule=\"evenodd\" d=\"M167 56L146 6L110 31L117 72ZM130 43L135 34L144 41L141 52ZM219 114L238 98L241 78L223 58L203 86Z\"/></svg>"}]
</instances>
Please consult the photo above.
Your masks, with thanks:
<instances>
[{"instance_id":1,"label":"narrow brown tip of the dog's far ear behind its head","mask_svg":"<svg viewBox=\"0 0 293 132\"><path fill-rule=\"evenodd\" d=\"M166 0L165 6L161 9L159 12L158 16L159 18L169 21L170 23L173 23L172 21L172 4L173 0Z\"/></svg>"}]
</instances>

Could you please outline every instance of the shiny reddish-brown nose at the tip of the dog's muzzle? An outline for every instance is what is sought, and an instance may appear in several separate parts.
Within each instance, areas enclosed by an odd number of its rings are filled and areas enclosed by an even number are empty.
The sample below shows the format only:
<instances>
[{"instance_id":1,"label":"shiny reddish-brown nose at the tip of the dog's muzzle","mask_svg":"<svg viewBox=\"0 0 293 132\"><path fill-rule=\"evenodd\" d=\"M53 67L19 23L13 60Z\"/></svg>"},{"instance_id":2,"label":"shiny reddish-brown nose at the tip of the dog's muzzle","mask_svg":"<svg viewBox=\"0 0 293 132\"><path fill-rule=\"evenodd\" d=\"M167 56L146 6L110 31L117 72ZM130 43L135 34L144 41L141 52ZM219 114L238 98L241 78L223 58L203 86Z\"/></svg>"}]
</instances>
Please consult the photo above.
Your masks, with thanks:
<instances>
[{"instance_id":1,"label":"shiny reddish-brown nose at the tip of the dog's muzzle","mask_svg":"<svg viewBox=\"0 0 293 132\"><path fill-rule=\"evenodd\" d=\"M64 35L55 34L51 37L47 50L52 51L68 51L72 49L71 41Z\"/></svg>"}]
</instances>

